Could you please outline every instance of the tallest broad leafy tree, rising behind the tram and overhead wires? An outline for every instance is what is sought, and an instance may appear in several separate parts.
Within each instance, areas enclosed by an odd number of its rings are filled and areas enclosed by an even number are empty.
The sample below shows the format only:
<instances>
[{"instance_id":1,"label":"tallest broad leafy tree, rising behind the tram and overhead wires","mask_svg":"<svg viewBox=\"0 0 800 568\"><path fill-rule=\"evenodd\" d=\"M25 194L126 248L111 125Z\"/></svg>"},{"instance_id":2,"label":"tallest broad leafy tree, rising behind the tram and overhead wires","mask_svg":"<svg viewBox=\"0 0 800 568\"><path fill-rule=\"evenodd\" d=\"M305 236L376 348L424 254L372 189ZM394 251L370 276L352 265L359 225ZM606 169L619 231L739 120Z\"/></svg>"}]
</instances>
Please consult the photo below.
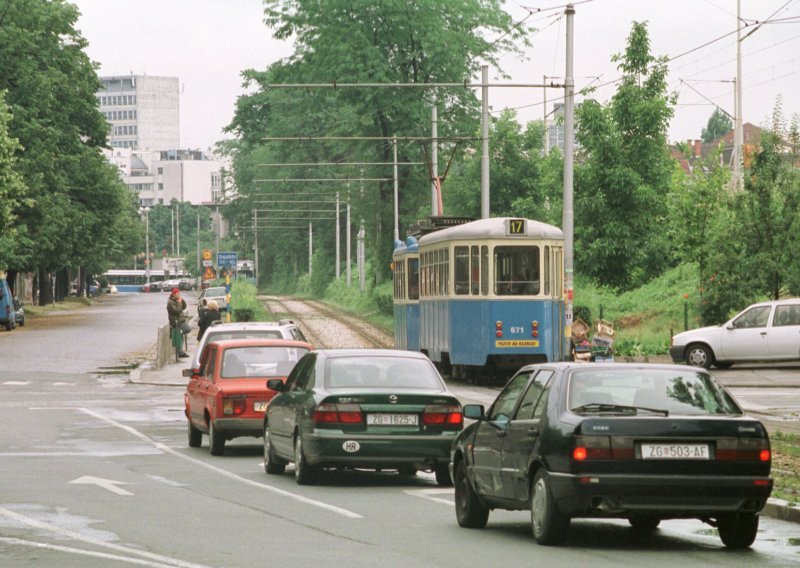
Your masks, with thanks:
<instances>
[{"instance_id":1,"label":"tallest broad leafy tree, rising behind the tram and overhead wires","mask_svg":"<svg viewBox=\"0 0 800 568\"><path fill-rule=\"evenodd\" d=\"M237 188L242 203L231 213L245 223L259 194L278 193L300 201L314 201L331 208L335 191L342 199L350 196L356 225L365 222L368 256L381 270L376 279L385 278L392 248L392 181L333 184L271 184L259 178L384 178L393 177L390 165L342 167L285 167L265 170L261 163L391 163L392 144L385 138L428 135L431 106L439 105L439 135L464 136L477 131L478 101L468 89L344 88L281 90L270 89L279 83L436 83L460 82L475 76L481 62L496 63L496 55L524 44L524 27L515 26L502 11L499 0L447 1L419 0L293 0L265 1L265 21L279 39L294 38L295 52L266 71L245 72L245 83L254 92L239 99L230 131L238 137L234 150ZM492 40L489 38L499 38ZM458 46L458 48L454 48ZM371 140L325 141L291 144L265 142L265 136L359 136ZM450 151L443 143L440 155ZM419 142L398 143L401 162L423 161L426 148ZM265 175L267 172L267 175ZM334 188L335 189L332 189ZM415 214L421 203L430 202L430 179L425 167L403 167L399 172L401 216ZM328 195L323 196L323 193ZM305 196L305 199L303 197ZM275 196L270 196L275 197ZM264 198L261 198L263 201ZM277 201L277 199L273 199ZM314 218L315 207L300 204L293 209L308 213L281 213L272 209L272 226L289 227L289 217ZM321 209L322 207L316 207ZM265 226L270 224L266 218ZM278 222L280 221L280 222ZM307 222L307 221L306 221ZM333 228L330 220L314 222L315 248L325 246L333 255ZM324 235L320 238L319 234ZM306 257L307 230L302 227L265 233L271 258L263 266L283 279L283 271L297 262L275 262L281 255ZM303 270L304 263L299 263Z\"/></svg>"}]
</instances>

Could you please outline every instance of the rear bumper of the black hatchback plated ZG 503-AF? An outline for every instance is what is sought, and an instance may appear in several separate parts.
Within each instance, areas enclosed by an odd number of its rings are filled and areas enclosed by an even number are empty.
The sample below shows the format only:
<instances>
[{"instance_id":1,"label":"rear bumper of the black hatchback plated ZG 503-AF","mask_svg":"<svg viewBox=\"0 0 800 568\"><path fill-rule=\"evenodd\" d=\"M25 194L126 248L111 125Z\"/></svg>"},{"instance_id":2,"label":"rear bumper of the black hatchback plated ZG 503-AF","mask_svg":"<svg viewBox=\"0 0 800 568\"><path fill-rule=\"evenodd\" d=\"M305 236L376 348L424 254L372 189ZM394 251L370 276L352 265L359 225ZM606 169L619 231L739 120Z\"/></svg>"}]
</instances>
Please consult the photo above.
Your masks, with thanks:
<instances>
[{"instance_id":1,"label":"rear bumper of the black hatchback plated ZG 503-AF","mask_svg":"<svg viewBox=\"0 0 800 568\"><path fill-rule=\"evenodd\" d=\"M550 480L559 510L576 517L646 512L682 518L758 512L772 492L769 477L551 473Z\"/></svg>"}]
</instances>

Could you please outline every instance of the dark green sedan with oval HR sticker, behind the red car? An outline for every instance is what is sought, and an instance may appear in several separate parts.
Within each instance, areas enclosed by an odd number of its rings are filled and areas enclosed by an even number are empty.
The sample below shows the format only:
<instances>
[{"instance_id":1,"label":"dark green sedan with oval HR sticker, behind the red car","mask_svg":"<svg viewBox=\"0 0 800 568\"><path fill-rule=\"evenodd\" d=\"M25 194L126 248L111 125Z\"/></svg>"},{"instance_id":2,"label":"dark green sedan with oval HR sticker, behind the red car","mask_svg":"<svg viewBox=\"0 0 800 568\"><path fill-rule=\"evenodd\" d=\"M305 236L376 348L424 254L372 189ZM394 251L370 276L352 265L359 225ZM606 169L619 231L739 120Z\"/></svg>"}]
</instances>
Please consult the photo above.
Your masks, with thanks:
<instances>
[{"instance_id":1,"label":"dark green sedan with oval HR sticker, behind the red car","mask_svg":"<svg viewBox=\"0 0 800 568\"><path fill-rule=\"evenodd\" d=\"M450 447L463 426L461 405L430 360L390 349L306 354L264 418L264 469L294 463L301 485L326 467L433 470L452 485Z\"/></svg>"}]
</instances>

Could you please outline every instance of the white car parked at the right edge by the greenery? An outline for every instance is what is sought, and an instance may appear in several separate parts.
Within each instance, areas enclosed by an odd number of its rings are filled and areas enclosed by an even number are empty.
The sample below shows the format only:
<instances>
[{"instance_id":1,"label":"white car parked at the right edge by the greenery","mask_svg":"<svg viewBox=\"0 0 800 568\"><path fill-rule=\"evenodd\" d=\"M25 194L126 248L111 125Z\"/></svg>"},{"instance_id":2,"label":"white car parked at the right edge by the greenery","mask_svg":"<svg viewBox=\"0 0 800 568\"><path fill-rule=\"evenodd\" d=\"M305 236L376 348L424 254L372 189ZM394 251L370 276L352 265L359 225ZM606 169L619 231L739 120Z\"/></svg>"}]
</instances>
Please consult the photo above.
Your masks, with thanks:
<instances>
[{"instance_id":1,"label":"white car parked at the right edge by the greenery","mask_svg":"<svg viewBox=\"0 0 800 568\"><path fill-rule=\"evenodd\" d=\"M740 361L800 360L800 298L753 304L722 325L672 338L676 363L726 369Z\"/></svg>"}]
</instances>

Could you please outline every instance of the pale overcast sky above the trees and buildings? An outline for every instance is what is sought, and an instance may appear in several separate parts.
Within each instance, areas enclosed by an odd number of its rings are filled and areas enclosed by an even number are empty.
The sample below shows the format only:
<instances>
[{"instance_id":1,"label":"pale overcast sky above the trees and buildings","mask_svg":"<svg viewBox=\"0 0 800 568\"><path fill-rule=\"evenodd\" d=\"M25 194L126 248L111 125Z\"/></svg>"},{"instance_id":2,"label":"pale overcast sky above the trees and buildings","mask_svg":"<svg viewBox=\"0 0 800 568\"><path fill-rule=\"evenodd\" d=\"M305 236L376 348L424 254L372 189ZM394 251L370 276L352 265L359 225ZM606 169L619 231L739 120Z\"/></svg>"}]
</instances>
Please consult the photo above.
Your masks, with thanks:
<instances>
[{"instance_id":1,"label":"pale overcast sky above the trees and buildings","mask_svg":"<svg viewBox=\"0 0 800 568\"><path fill-rule=\"evenodd\" d=\"M89 57L99 64L101 75L180 79L181 145L185 148L205 149L226 137L222 129L233 117L236 98L244 92L242 70L263 70L293 50L290 43L274 40L264 26L261 0L72 1L82 14L77 28L88 40ZM539 29L531 37L527 61L512 56L502 59L509 82L541 83L544 76L556 81L563 77L566 32L565 20L559 17L563 10L533 15L528 10L560 3L507 3L507 11L517 21L528 16L526 23ZM615 91L611 82L619 76L611 57L624 50L631 22L647 21L651 52L676 58L670 63L669 82L679 100L670 141L700 137L714 110L707 99L734 114L736 0L576 0L574 4L578 88L593 81L608 83L592 96L610 99ZM742 18L750 23L764 21L775 12L774 20L783 20L760 27L742 41L745 122L766 123L781 95L787 118L800 113L800 0L741 0L741 10ZM743 35L754 28L750 25ZM709 42L713 43L702 47ZM495 69L490 69L490 77L500 80ZM309 78L309 82L314 80ZM558 94L548 89L548 109ZM518 109L524 122L541 118L543 96L542 89L493 88L489 104L494 111Z\"/></svg>"}]
</instances>

